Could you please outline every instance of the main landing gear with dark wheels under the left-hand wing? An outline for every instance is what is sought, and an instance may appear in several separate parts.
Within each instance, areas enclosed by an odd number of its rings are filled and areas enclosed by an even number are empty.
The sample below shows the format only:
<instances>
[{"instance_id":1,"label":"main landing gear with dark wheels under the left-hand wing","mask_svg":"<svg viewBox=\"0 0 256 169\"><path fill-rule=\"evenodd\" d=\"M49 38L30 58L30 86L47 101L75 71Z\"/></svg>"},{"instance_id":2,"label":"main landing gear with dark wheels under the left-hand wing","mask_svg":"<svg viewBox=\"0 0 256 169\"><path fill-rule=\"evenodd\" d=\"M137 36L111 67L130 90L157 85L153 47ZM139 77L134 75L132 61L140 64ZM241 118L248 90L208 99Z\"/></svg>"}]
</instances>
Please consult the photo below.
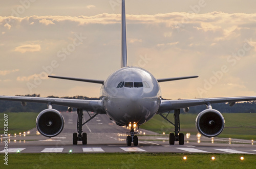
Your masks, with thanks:
<instances>
[{"instance_id":1,"label":"main landing gear with dark wheels under the left-hand wing","mask_svg":"<svg viewBox=\"0 0 256 169\"><path fill-rule=\"evenodd\" d=\"M77 133L73 133L73 145L77 145L77 141L82 141L83 145L87 145L87 133L82 133L82 126L92 120L94 117L96 117L98 114L94 114L91 116L89 113L88 115L90 116L90 119L87 120L86 122L82 123L83 119L83 112L82 109L77 108Z\"/></svg>"}]
</instances>

